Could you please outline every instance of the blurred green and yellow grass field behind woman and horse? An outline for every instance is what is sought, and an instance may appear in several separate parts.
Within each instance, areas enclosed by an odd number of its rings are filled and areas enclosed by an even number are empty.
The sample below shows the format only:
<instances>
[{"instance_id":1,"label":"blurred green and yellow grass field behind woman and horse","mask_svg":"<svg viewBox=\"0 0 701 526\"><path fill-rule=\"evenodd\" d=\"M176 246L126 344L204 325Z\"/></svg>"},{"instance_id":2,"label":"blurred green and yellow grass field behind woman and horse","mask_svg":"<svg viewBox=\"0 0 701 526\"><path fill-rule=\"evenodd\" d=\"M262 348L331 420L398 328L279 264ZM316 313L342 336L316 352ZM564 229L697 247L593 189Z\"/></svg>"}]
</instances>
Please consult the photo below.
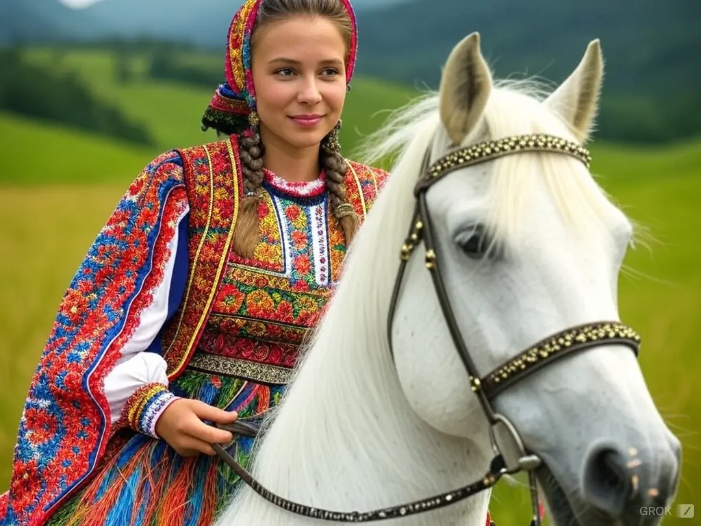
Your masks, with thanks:
<instances>
[{"instance_id":1,"label":"blurred green and yellow grass field behind woman and horse","mask_svg":"<svg viewBox=\"0 0 701 526\"><path fill-rule=\"evenodd\" d=\"M48 60L37 52L36 60ZM211 140L199 131L210 93L165 84L115 86L100 53L67 55L105 97L151 123L157 149L0 113L0 492L11 473L12 447L36 360L65 287L126 185L158 151ZM348 100L344 147L367 133L381 109L411 92L360 79ZM698 214L701 142L665 148L592 147L593 172L652 240L629 253L620 279L623 321L643 337L640 363L665 419L684 444L676 504L701 505L701 319ZM527 492L500 485L492 508L498 526L524 524ZM674 524L671 518L665 524ZM690 522L681 522L690 524Z\"/></svg>"}]
</instances>

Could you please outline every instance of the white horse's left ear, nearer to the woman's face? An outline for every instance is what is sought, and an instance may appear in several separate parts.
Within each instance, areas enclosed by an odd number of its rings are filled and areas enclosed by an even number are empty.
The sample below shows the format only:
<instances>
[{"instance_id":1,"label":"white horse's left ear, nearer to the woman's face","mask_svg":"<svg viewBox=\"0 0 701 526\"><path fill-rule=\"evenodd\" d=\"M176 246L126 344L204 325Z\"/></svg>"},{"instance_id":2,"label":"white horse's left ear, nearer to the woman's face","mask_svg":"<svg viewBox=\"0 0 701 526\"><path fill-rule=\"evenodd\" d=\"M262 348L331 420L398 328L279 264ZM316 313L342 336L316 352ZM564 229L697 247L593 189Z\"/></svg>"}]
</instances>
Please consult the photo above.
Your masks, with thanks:
<instances>
[{"instance_id":1,"label":"white horse's left ear, nearer to the woman's face","mask_svg":"<svg viewBox=\"0 0 701 526\"><path fill-rule=\"evenodd\" d=\"M475 32L453 48L441 76L440 117L454 144L461 144L482 116L491 86Z\"/></svg>"}]
</instances>

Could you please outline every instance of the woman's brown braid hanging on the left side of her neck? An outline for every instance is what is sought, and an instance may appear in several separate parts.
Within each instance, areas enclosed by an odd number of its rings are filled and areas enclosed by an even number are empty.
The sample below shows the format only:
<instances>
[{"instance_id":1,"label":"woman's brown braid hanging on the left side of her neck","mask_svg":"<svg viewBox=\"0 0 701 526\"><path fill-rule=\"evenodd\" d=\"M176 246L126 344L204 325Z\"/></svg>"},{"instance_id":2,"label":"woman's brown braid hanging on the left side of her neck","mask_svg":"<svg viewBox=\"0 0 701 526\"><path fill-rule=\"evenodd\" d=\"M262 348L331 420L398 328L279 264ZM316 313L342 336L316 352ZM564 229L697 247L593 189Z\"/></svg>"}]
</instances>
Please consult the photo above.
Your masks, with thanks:
<instances>
[{"instance_id":1,"label":"woman's brown braid hanging on the left side of her neck","mask_svg":"<svg viewBox=\"0 0 701 526\"><path fill-rule=\"evenodd\" d=\"M257 191L263 181L264 147L257 126L250 132L238 136L238 151L243 172L244 196L233 231L233 251L242 257L253 257L253 252L260 239L258 226Z\"/></svg>"}]
</instances>

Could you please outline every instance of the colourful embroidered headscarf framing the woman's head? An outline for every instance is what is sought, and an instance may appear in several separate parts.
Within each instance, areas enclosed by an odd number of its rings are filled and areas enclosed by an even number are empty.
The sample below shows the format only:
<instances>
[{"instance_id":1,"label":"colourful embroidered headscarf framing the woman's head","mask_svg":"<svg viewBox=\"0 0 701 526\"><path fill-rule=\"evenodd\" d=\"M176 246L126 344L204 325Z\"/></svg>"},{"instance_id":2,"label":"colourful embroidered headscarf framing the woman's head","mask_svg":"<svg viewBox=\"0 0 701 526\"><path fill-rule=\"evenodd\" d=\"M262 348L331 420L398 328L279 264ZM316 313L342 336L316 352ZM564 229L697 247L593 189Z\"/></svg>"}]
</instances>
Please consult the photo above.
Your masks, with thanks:
<instances>
[{"instance_id":1,"label":"colourful embroidered headscarf framing the woman's head","mask_svg":"<svg viewBox=\"0 0 701 526\"><path fill-rule=\"evenodd\" d=\"M248 116L256 109L256 94L251 71L251 36L256 24L258 8L266 0L246 0L234 15L229 26L226 45L224 78L219 84L202 118L202 129L215 128L231 135L241 133L249 126ZM353 31L351 48L346 62L346 84L350 86L358 54L358 25L351 0L339 0L348 11Z\"/></svg>"}]
</instances>

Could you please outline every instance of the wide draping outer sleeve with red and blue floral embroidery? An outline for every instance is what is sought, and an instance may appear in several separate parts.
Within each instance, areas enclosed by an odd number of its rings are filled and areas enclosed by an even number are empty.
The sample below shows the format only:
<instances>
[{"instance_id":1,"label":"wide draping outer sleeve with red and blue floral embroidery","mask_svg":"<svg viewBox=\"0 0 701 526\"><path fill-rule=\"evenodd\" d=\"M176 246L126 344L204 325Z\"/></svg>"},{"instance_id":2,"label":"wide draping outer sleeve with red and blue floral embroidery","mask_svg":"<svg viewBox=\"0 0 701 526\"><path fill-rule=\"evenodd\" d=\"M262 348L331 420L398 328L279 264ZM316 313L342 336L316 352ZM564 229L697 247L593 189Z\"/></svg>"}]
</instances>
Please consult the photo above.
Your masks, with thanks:
<instances>
[{"instance_id":1,"label":"wide draping outer sleeve with red and blue floral embroidery","mask_svg":"<svg viewBox=\"0 0 701 526\"><path fill-rule=\"evenodd\" d=\"M62 299L25 403L0 522L43 523L107 450L116 427L104 377L163 279L168 243L187 205L175 159L163 154L142 170Z\"/></svg>"}]
</instances>

